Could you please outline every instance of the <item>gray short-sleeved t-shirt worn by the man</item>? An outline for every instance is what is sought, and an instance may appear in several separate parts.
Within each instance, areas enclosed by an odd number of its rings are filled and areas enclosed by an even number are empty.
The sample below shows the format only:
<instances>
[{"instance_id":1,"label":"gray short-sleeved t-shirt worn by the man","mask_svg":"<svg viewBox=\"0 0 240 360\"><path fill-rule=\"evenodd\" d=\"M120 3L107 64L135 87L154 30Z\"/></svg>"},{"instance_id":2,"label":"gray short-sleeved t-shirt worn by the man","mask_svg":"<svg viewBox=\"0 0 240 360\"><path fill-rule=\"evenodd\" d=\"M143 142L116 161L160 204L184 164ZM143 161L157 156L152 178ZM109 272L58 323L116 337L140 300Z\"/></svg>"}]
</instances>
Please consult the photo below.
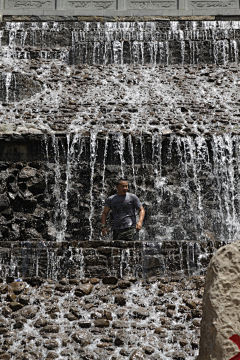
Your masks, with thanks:
<instances>
[{"instance_id":1,"label":"gray short-sleeved t-shirt worn by the man","mask_svg":"<svg viewBox=\"0 0 240 360\"><path fill-rule=\"evenodd\" d=\"M113 213L113 228L125 229L136 226L135 210L140 209L142 206L139 198L131 193L126 195L112 195L106 202L105 206L108 206Z\"/></svg>"}]
</instances>

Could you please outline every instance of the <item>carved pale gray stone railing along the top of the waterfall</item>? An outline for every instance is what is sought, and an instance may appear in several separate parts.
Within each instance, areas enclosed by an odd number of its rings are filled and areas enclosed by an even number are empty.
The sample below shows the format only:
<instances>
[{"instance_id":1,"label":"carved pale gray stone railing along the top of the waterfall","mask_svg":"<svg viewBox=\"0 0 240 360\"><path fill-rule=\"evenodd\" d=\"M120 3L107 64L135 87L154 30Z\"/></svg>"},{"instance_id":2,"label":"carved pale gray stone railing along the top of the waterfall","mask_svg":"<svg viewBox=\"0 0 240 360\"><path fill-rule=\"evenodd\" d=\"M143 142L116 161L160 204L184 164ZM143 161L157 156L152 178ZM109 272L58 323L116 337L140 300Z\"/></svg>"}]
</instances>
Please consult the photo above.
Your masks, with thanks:
<instances>
[{"instance_id":1,"label":"carved pale gray stone railing along the top of the waterfall","mask_svg":"<svg viewBox=\"0 0 240 360\"><path fill-rule=\"evenodd\" d=\"M77 17L218 17L240 16L238 0L0 0L1 16L21 20L36 16L40 20ZM41 19L42 17L42 19ZM234 19L233 18L233 19ZM25 18L25 20L31 20ZM86 19L87 20L87 19Z\"/></svg>"}]
</instances>

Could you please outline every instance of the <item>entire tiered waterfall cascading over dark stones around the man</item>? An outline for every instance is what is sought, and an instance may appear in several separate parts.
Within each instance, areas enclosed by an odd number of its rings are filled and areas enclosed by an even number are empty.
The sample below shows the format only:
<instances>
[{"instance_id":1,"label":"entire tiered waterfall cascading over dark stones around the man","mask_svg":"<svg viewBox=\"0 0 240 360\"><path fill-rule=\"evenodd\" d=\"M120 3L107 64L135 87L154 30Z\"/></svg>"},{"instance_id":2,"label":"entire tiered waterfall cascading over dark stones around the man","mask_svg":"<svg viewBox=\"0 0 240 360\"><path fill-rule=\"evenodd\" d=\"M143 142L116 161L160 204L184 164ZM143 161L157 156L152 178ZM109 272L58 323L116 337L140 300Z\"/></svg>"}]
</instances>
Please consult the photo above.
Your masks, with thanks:
<instances>
[{"instance_id":1,"label":"entire tiered waterfall cascading over dark stones around the man","mask_svg":"<svg viewBox=\"0 0 240 360\"><path fill-rule=\"evenodd\" d=\"M1 23L5 358L196 358L201 275L239 237L239 29ZM120 176L146 209L128 244L100 236Z\"/></svg>"}]
</instances>

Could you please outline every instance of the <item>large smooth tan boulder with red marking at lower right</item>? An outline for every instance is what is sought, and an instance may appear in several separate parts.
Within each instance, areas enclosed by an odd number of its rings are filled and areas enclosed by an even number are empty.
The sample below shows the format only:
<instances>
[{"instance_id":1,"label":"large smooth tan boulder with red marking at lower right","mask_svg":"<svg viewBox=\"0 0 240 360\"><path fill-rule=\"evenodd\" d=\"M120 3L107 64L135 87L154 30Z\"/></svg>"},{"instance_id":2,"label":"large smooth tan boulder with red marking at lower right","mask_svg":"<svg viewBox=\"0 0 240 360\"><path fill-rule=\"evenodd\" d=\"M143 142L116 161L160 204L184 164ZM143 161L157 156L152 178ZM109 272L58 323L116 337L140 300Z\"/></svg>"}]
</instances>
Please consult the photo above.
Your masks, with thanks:
<instances>
[{"instance_id":1,"label":"large smooth tan boulder with red marking at lower right","mask_svg":"<svg viewBox=\"0 0 240 360\"><path fill-rule=\"evenodd\" d=\"M223 246L209 263L198 360L228 360L239 352L229 340L240 335L239 274L240 240Z\"/></svg>"}]
</instances>

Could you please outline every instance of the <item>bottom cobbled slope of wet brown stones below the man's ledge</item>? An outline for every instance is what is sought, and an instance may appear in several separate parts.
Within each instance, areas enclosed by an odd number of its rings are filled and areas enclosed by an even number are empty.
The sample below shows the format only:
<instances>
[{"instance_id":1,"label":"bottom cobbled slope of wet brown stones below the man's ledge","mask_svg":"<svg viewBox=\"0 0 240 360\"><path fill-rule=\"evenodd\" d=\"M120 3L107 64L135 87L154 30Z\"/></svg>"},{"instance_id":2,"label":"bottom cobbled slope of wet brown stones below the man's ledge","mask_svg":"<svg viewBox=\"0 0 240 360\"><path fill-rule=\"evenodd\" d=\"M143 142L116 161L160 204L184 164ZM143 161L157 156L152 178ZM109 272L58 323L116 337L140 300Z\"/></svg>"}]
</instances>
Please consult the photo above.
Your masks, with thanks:
<instances>
[{"instance_id":1,"label":"bottom cobbled slope of wet brown stones below the man's ledge","mask_svg":"<svg viewBox=\"0 0 240 360\"><path fill-rule=\"evenodd\" d=\"M0 359L196 359L203 276L2 280Z\"/></svg>"}]
</instances>

